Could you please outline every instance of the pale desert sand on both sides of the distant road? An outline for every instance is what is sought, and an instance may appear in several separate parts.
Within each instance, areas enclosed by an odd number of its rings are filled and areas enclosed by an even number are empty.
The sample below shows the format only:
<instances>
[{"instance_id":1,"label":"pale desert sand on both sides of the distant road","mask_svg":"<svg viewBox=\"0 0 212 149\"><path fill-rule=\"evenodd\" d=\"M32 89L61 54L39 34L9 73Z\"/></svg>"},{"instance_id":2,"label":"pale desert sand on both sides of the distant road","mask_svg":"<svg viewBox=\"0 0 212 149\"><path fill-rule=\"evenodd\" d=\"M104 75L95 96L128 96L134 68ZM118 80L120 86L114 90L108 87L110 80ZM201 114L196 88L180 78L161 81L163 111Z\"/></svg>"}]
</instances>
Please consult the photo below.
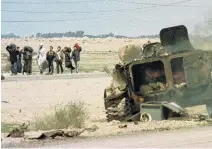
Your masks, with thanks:
<instances>
[{"instance_id":1,"label":"pale desert sand on both sides of the distant road","mask_svg":"<svg viewBox=\"0 0 212 149\"><path fill-rule=\"evenodd\" d=\"M125 44L144 44L149 39L88 39L88 38L62 38L62 39L2 39L1 53L6 53L7 44L15 43L20 47L30 45L37 49L42 42L48 49L50 45L72 46L79 42L83 51L81 53L80 72L102 71L104 66L110 68L118 60L118 48ZM158 39L151 39L151 42ZM37 50L35 50L37 51ZM109 52L110 51L110 52ZM2 58L2 64L6 63ZM37 66L33 66L33 70ZM31 121L35 115L44 115L54 110L55 106L70 101L84 101L87 105L90 119L88 125L95 124L99 130L84 136L101 136L157 128L196 127L199 122L193 121L165 121L134 125L128 124L127 129L117 129L119 122L107 123L103 101L104 88L111 78L82 78L82 79L55 79L2 82L1 118L4 123L23 123ZM199 110L199 109L198 109Z\"/></svg>"}]
</instances>

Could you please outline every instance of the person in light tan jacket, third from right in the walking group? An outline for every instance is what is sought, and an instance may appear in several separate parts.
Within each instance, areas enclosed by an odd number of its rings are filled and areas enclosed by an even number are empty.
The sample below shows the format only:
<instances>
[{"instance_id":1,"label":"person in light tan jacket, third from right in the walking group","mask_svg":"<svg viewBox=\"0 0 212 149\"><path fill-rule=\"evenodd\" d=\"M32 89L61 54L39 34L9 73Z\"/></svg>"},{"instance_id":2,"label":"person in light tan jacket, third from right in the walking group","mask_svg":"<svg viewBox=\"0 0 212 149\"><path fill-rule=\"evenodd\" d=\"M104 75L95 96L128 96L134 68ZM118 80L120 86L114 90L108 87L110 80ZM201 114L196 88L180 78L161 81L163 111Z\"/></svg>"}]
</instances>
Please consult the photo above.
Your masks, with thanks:
<instances>
[{"instance_id":1,"label":"person in light tan jacket, third from right in the walking group","mask_svg":"<svg viewBox=\"0 0 212 149\"><path fill-rule=\"evenodd\" d=\"M57 68L57 74L63 73L63 52L61 50L61 46L57 47L56 52L56 68Z\"/></svg>"}]
</instances>

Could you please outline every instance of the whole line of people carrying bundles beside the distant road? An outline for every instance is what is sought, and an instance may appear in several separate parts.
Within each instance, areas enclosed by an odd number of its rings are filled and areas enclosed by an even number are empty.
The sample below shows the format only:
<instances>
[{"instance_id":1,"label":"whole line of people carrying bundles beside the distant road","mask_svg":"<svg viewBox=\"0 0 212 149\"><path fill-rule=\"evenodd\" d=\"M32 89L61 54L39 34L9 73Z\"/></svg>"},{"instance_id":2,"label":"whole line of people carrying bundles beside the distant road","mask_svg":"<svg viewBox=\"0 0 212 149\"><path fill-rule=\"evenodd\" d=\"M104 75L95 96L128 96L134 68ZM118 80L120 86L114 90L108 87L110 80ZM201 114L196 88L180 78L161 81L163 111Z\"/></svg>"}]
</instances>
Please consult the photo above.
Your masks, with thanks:
<instances>
[{"instance_id":1,"label":"whole line of people carrying bundles beside the distant road","mask_svg":"<svg viewBox=\"0 0 212 149\"><path fill-rule=\"evenodd\" d=\"M23 49L17 47L15 44L10 44L6 47L6 50L10 55L11 62L11 72L12 75L17 73L26 73L30 75L32 73L32 53L33 48L30 46L25 46ZM37 63L39 66L40 74L43 74L46 68L49 69L48 74L54 73L54 62L56 62L57 73L64 72L63 61L65 60L65 67L71 70L76 70L76 73L79 72L79 61L80 61L80 52L82 51L81 46L76 43L73 46L73 50L70 47L61 46L57 47L57 50L53 50L53 46L49 47L49 50L46 51L43 47L43 44L40 44ZM22 56L23 56L23 68L22 68ZM74 61L75 67L72 65L72 60Z\"/></svg>"}]
</instances>

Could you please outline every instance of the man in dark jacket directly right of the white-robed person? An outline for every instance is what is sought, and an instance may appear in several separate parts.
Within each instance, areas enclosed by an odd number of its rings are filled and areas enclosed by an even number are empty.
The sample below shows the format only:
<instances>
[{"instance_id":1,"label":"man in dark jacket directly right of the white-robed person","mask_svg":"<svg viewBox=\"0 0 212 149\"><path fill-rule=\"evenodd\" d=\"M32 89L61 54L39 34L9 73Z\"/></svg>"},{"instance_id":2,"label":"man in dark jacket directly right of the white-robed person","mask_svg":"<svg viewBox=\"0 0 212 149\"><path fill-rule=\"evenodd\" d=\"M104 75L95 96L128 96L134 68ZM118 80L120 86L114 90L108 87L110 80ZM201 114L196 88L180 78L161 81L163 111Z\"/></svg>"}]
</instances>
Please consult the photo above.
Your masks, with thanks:
<instances>
[{"instance_id":1,"label":"man in dark jacket directly right of the white-robed person","mask_svg":"<svg viewBox=\"0 0 212 149\"><path fill-rule=\"evenodd\" d=\"M54 59L56 57L56 52L53 51L53 46L50 46L50 50L46 53L46 60L48 61L49 74L54 73Z\"/></svg>"}]
</instances>

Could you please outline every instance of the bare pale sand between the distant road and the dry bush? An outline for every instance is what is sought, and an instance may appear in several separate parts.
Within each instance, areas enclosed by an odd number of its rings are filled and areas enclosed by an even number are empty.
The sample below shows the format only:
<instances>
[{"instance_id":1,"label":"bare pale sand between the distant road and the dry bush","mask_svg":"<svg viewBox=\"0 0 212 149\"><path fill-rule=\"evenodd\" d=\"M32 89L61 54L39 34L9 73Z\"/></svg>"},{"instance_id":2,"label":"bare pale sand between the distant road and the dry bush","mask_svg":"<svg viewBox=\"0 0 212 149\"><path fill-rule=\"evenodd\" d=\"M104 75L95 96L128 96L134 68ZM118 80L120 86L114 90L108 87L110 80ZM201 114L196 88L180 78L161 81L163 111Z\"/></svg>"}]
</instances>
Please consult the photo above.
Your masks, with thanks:
<instances>
[{"instance_id":1,"label":"bare pale sand between the distant road and the dry bush","mask_svg":"<svg viewBox=\"0 0 212 149\"><path fill-rule=\"evenodd\" d=\"M87 104L91 118L104 117L103 91L110 78L2 82L2 122L19 123L71 100Z\"/></svg>"}]
</instances>

